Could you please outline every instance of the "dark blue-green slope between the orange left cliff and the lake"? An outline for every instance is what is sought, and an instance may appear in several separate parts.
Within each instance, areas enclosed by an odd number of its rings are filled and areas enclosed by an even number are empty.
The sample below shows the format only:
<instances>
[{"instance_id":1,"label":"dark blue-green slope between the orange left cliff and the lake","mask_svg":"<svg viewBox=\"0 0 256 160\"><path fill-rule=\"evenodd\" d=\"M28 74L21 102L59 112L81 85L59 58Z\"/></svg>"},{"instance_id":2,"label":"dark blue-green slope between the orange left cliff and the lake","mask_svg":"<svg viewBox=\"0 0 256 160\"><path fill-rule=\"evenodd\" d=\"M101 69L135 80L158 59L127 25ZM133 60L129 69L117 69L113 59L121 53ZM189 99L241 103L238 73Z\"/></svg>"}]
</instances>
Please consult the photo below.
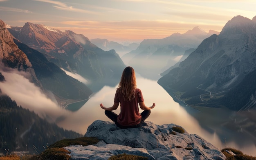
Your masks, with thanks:
<instances>
[{"instance_id":1,"label":"dark blue-green slope between the orange left cliff and the lake","mask_svg":"<svg viewBox=\"0 0 256 160\"><path fill-rule=\"evenodd\" d=\"M14 42L27 55L42 90L52 92L61 107L74 101L88 99L92 94L90 88L68 76L61 68L49 62L42 53L16 39Z\"/></svg>"}]
</instances>

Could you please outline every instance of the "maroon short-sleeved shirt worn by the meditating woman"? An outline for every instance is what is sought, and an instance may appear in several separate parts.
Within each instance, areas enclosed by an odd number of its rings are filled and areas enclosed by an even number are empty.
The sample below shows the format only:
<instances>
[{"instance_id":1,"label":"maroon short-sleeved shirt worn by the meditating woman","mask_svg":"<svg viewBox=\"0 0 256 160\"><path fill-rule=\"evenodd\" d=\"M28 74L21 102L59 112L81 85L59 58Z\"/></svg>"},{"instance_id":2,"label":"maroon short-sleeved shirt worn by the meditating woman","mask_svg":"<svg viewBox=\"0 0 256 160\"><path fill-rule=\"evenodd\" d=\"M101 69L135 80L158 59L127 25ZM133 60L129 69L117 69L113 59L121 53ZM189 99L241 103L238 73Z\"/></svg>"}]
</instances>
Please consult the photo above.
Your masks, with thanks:
<instances>
[{"instance_id":1,"label":"maroon short-sleeved shirt worn by the meditating woman","mask_svg":"<svg viewBox=\"0 0 256 160\"><path fill-rule=\"evenodd\" d=\"M114 102L120 102L121 106L121 112L117 117L117 122L122 126L139 124L141 121L139 102L143 101L142 92L139 88L135 89L135 97L131 101L124 101L124 94L116 92Z\"/></svg>"}]
</instances>

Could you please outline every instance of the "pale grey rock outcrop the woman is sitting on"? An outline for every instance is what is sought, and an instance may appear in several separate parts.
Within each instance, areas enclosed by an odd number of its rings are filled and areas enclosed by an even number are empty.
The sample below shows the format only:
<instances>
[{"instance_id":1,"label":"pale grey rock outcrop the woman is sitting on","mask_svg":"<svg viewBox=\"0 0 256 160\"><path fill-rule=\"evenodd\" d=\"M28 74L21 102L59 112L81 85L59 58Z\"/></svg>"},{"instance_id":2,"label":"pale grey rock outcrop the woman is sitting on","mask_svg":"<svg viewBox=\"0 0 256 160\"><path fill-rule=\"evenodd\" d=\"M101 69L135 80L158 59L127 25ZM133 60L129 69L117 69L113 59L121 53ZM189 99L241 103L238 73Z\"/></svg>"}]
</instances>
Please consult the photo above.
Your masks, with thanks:
<instances>
[{"instance_id":1,"label":"pale grey rock outcrop the woman is sitting on","mask_svg":"<svg viewBox=\"0 0 256 160\"><path fill-rule=\"evenodd\" d=\"M155 125L146 121L142 127L120 129L112 122L94 121L86 137L97 137L97 145L69 146L73 159L107 160L126 153L148 157L149 160L225 160L225 156L211 143L196 134L175 132L175 124Z\"/></svg>"}]
</instances>

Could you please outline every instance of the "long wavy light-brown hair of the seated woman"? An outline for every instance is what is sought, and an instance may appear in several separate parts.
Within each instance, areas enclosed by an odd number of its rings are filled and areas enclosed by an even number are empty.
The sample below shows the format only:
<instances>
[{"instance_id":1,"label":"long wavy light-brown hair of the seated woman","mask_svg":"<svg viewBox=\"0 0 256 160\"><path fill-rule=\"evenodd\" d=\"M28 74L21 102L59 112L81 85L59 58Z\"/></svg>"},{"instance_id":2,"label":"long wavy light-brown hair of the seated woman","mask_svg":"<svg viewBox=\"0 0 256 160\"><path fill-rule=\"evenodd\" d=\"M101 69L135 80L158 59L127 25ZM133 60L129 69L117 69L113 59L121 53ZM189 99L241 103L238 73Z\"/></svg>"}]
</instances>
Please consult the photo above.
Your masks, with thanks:
<instances>
[{"instance_id":1,"label":"long wavy light-brown hair of the seated woman","mask_svg":"<svg viewBox=\"0 0 256 160\"><path fill-rule=\"evenodd\" d=\"M132 67L126 67L123 71L118 90L124 94L124 101L131 101L135 97L137 88L135 71Z\"/></svg>"}]
</instances>

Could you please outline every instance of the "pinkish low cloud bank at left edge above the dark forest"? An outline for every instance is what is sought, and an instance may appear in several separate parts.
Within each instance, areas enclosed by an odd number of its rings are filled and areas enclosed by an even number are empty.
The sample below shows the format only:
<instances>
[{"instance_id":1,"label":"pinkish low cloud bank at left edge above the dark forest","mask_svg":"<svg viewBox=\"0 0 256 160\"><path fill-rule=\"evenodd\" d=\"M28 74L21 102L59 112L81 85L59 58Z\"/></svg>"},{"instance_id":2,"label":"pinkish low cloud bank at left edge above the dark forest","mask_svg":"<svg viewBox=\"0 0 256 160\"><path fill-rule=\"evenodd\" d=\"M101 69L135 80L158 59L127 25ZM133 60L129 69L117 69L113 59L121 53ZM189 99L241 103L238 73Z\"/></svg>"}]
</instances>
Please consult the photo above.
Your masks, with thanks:
<instances>
[{"instance_id":1,"label":"pinkish low cloud bank at left edge above the dark forest","mask_svg":"<svg viewBox=\"0 0 256 160\"><path fill-rule=\"evenodd\" d=\"M10 96L18 105L34 111L40 117L47 117L47 120L52 122L60 116L65 117L69 114L69 111L58 106L54 97L50 99L40 88L25 78L29 77L27 72L10 68L4 70L2 67L0 72L2 72L6 80L0 82L2 93Z\"/></svg>"}]
</instances>

